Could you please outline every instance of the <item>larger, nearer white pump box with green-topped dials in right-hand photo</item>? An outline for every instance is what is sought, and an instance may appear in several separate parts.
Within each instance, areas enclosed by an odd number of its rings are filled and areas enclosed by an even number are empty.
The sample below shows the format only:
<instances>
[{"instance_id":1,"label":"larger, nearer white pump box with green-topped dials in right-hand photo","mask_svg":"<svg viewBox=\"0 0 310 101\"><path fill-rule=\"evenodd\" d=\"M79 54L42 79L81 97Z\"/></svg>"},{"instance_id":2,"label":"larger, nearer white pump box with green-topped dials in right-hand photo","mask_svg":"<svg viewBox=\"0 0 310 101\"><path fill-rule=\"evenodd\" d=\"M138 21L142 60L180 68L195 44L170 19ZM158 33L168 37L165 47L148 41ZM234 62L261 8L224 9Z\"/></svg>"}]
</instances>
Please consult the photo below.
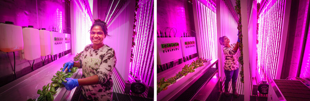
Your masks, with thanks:
<instances>
[{"instance_id":1,"label":"larger, nearer white pump box with green-topped dials in right-hand photo","mask_svg":"<svg viewBox=\"0 0 310 101\"><path fill-rule=\"evenodd\" d=\"M157 38L157 64L182 58L180 38Z\"/></svg>"}]
</instances>

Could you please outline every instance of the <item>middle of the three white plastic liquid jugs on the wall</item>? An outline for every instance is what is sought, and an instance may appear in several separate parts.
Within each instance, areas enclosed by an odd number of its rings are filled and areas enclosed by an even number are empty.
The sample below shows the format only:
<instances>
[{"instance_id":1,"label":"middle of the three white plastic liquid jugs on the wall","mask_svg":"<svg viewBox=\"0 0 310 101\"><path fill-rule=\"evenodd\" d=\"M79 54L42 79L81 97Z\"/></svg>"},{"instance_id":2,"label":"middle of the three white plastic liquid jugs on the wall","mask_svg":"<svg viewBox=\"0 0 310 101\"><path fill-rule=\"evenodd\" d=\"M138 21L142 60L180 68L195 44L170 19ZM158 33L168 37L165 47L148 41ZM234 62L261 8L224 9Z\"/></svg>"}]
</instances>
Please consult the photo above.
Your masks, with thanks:
<instances>
[{"instance_id":1,"label":"middle of the three white plastic liquid jugs on the wall","mask_svg":"<svg viewBox=\"0 0 310 101\"><path fill-rule=\"evenodd\" d=\"M24 49L22 50L23 58L26 60L38 59L41 56L39 30L33 26L23 28Z\"/></svg>"}]
</instances>

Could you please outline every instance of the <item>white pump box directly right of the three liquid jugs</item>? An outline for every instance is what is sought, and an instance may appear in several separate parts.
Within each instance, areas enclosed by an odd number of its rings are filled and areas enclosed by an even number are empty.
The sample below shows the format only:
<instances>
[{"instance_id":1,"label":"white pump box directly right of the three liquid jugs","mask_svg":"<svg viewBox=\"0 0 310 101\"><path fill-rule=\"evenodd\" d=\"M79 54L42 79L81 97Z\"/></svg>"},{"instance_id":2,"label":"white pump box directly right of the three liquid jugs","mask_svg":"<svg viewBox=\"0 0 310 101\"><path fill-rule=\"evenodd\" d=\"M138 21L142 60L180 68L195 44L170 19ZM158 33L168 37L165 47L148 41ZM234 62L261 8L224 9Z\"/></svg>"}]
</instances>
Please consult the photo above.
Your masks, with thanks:
<instances>
[{"instance_id":1,"label":"white pump box directly right of the three liquid jugs","mask_svg":"<svg viewBox=\"0 0 310 101\"><path fill-rule=\"evenodd\" d=\"M63 35L62 33L50 31L51 36L51 55L56 55L63 51Z\"/></svg>"}]
</instances>

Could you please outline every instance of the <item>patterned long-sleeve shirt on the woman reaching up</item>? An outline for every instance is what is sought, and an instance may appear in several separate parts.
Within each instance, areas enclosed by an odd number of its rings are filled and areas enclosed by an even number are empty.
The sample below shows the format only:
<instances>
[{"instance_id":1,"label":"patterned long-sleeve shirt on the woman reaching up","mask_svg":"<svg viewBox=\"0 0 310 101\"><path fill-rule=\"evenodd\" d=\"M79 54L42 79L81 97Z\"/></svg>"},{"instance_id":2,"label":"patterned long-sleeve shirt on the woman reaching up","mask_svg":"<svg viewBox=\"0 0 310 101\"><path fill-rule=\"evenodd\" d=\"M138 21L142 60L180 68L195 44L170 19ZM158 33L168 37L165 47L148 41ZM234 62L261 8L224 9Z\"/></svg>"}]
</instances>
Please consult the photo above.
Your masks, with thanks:
<instances>
[{"instance_id":1,"label":"patterned long-sleeve shirt on the woman reaching up","mask_svg":"<svg viewBox=\"0 0 310 101\"><path fill-rule=\"evenodd\" d=\"M239 68L239 64L236 58L237 51L233 50L233 48L236 46L236 43L233 43L230 45L230 47L223 47L224 52L224 70L226 71L234 71Z\"/></svg>"}]
</instances>

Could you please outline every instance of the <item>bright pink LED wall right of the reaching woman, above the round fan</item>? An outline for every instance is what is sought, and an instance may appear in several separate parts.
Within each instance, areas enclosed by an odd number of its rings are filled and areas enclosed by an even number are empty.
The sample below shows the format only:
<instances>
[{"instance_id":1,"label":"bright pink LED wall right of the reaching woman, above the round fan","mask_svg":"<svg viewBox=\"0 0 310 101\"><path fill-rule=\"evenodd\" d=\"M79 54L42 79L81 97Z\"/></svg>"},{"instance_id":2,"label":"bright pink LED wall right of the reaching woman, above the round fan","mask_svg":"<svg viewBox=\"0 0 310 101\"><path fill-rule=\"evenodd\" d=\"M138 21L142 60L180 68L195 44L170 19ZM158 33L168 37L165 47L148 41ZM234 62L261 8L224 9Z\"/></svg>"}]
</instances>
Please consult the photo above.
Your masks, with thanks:
<instances>
[{"instance_id":1,"label":"bright pink LED wall right of the reaching woman, above the round fan","mask_svg":"<svg viewBox=\"0 0 310 101\"><path fill-rule=\"evenodd\" d=\"M268 9L264 9L263 13L259 15L257 66L261 78L266 75L270 79L275 79L282 34L284 2L283 0L269 1L269 4L272 3L271 7L267 6Z\"/></svg>"}]
</instances>

